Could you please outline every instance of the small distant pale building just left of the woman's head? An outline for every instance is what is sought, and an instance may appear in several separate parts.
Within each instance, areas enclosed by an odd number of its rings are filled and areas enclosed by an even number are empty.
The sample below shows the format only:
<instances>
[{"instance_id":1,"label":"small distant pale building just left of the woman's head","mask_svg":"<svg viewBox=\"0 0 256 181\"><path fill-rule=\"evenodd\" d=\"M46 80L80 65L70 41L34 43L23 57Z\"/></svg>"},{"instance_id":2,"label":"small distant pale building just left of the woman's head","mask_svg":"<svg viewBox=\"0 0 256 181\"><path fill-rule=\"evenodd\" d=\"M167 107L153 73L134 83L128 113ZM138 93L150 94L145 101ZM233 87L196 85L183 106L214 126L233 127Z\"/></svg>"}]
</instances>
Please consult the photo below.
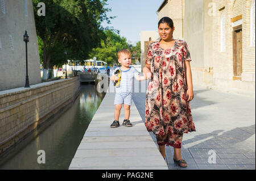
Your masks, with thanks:
<instances>
[{"instance_id":1,"label":"small distant pale building just left of the woman's head","mask_svg":"<svg viewBox=\"0 0 256 181\"><path fill-rule=\"evenodd\" d=\"M142 31L141 32L141 68L145 65L145 57L147 53L148 43L156 41L159 37L158 31Z\"/></svg>"}]
</instances>

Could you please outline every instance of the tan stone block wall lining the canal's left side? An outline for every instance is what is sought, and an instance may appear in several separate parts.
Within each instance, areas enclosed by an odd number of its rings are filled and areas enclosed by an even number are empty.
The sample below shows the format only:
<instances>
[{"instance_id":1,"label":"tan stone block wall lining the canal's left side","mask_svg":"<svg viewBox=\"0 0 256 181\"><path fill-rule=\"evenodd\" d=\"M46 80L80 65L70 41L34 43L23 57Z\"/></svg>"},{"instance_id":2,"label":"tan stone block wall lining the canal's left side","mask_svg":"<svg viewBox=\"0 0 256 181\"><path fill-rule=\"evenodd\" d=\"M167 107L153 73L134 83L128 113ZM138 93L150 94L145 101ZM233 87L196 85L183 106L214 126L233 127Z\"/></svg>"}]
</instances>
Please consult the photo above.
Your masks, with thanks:
<instances>
[{"instance_id":1,"label":"tan stone block wall lining the canal's left side","mask_svg":"<svg viewBox=\"0 0 256 181\"><path fill-rule=\"evenodd\" d=\"M79 77L0 91L0 154L71 104L79 95Z\"/></svg>"}]
</instances>

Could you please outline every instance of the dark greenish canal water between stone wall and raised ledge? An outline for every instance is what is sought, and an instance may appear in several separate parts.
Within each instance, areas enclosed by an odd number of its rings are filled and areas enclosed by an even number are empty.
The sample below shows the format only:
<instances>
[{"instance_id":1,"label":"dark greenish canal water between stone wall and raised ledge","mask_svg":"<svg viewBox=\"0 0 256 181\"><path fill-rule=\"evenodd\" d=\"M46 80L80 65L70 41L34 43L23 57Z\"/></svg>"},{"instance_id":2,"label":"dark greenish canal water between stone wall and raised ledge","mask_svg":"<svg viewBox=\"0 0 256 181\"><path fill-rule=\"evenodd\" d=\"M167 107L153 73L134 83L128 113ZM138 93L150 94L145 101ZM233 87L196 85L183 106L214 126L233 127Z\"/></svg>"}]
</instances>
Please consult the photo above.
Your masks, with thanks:
<instances>
[{"instance_id":1,"label":"dark greenish canal water between stone wall and raised ledge","mask_svg":"<svg viewBox=\"0 0 256 181\"><path fill-rule=\"evenodd\" d=\"M0 169L68 169L104 96L95 85L81 85L72 107L47 121L38 136L31 134L10 150ZM45 163L38 163L44 153Z\"/></svg>"}]
</instances>

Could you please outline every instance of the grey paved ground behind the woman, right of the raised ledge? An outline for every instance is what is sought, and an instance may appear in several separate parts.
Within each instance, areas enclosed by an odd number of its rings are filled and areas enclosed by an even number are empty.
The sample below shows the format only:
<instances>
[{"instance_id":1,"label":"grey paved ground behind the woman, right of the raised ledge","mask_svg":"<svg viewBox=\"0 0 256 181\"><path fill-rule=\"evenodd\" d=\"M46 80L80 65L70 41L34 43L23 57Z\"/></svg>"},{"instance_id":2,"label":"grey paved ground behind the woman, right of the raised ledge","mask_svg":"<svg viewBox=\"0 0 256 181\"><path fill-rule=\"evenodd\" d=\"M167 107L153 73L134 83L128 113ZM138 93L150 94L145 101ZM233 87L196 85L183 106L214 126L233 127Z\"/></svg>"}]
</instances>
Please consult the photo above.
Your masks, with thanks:
<instances>
[{"instance_id":1,"label":"grey paved ground behind the woman, right of the raised ledge","mask_svg":"<svg viewBox=\"0 0 256 181\"><path fill-rule=\"evenodd\" d=\"M144 121L146 93L139 85L133 100ZM200 87L194 87L194 94L191 109L196 132L184 134L181 147L188 167L176 166L174 149L166 146L169 169L255 169L255 97ZM208 162L213 155L210 150L216 153L216 163Z\"/></svg>"}]
</instances>

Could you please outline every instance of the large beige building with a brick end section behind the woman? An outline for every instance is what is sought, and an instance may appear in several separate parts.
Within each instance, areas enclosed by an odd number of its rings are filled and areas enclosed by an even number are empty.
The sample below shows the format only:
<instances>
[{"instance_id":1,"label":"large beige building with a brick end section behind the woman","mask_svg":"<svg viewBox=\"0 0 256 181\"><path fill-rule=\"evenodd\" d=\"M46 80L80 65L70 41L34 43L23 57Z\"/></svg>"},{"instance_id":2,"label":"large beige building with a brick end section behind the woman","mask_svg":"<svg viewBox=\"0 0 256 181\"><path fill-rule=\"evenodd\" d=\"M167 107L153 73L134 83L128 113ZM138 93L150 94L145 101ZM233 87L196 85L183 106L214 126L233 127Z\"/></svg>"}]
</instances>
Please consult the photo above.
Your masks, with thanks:
<instances>
[{"instance_id":1,"label":"large beige building with a brick end section behind the woman","mask_svg":"<svg viewBox=\"0 0 256 181\"><path fill-rule=\"evenodd\" d=\"M163 16L188 44L195 85L255 92L255 0L164 0Z\"/></svg>"}]
</instances>

